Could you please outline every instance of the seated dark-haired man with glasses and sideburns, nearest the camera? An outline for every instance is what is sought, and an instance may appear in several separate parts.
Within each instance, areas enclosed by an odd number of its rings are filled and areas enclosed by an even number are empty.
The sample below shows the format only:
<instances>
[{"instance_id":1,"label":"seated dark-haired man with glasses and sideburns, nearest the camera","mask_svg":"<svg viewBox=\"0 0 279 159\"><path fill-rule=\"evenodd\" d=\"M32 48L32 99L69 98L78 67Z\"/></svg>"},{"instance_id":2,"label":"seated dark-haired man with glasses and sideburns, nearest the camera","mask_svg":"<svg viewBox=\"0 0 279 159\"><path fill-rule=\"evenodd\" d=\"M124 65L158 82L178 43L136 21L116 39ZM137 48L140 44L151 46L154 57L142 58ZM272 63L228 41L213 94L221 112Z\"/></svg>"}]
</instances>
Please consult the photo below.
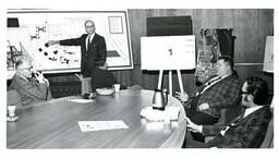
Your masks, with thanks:
<instances>
[{"instance_id":1,"label":"seated dark-haired man with glasses and sideburns, nearest the camera","mask_svg":"<svg viewBox=\"0 0 279 159\"><path fill-rule=\"evenodd\" d=\"M243 111L232 123L226 126L216 127L219 134L214 139L204 144L186 138L187 148L218 147L218 148L256 148L265 138L268 123L271 119L269 106L266 106L268 86L265 81L258 77L250 77L242 87ZM192 132L203 133L203 125L195 124L186 119L187 129Z\"/></svg>"}]
</instances>

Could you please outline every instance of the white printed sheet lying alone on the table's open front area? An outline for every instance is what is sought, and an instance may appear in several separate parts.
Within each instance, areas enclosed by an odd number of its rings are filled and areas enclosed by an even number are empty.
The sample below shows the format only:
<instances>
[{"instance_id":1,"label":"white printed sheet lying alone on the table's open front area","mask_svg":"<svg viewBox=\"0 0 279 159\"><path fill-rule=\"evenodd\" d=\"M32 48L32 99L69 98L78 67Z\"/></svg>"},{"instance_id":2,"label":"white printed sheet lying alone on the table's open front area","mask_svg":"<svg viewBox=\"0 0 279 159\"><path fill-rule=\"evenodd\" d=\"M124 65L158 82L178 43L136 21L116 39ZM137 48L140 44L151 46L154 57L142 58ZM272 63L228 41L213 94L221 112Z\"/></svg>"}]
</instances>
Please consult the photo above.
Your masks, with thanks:
<instances>
[{"instance_id":1,"label":"white printed sheet lying alone on the table's open front area","mask_svg":"<svg viewBox=\"0 0 279 159\"><path fill-rule=\"evenodd\" d=\"M123 121L78 121L82 132L129 129Z\"/></svg>"}]
</instances>

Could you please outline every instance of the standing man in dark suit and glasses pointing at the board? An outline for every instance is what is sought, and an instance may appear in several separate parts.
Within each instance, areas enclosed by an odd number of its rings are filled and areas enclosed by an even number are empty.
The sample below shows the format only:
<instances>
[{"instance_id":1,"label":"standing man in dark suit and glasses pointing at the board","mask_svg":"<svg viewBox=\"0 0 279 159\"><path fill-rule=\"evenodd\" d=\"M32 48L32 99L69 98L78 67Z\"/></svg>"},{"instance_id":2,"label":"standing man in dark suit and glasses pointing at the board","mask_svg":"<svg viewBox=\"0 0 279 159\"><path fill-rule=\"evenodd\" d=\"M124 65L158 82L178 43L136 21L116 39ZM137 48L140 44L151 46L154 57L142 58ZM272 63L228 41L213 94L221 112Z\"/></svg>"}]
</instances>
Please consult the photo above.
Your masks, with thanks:
<instances>
[{"instance_id":1,"label":"standing man in dark suit and glasses pointing at the board","mask_svg":"<svg viewBox=\"0 0 279 159\"><path fill-rule=\"evenodd\" d=\"M88 20L84 23L85 32L78 38L64 39L64 40L49 40L47 44L62 45L62 46L81 46L82 61L81 61L81 81L82 94L88 93L90 87L92 77L94 80L98 76L96 73L99 70L107 70L107 47L105 38L95 33L95 24ZM94 89L93 89L94 90Z\"/></svg>"}]
</instances>

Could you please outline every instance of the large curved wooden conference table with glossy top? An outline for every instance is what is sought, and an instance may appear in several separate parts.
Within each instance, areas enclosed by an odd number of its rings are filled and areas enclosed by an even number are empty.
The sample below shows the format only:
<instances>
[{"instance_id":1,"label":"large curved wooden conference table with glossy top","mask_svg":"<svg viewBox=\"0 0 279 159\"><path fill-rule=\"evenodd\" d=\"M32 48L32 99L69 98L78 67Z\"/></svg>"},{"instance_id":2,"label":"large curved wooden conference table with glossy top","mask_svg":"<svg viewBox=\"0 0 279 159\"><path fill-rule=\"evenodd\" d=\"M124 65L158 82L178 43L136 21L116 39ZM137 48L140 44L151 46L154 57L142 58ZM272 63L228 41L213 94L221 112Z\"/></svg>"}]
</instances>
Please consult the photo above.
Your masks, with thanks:
<instances>
[{"instance_id":1,"label":"large curved wooden conference table with glossy top","mask_svg":"<svg viewBox=\"0 0 279 159\"><path fill-rule=\"evenodd\" d=\"M120 90L97 96L93 102L64 97L16 109L16 122L7 122L8 148L180 148L185 117L180 101L169 97L167 107L180 107L178 121L151 122L141 117L151 106L151 90ZM81 132L78 121L122 120L129 129Z\"/></svg>"}]
</instances>

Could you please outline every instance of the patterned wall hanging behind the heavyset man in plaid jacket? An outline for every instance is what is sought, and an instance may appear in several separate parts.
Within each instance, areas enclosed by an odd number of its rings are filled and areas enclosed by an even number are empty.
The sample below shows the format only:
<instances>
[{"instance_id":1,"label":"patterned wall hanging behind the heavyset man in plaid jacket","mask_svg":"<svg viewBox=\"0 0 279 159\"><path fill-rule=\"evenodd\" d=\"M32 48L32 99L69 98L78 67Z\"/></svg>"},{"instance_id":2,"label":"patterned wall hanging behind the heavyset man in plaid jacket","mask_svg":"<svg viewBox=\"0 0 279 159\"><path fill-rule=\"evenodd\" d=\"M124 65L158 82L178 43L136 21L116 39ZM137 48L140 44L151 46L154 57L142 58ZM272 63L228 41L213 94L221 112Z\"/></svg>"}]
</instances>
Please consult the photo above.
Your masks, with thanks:
<instances>
[{"instance_id":1,"label":"patterned wall hanging behind the heavyset man in plaid jacket","mask_svg":"<svg viewBox=\"0 0 279 159\"><path fill-rule=\"evenodd\" d=\"M204 83L209 76L216 75L216 63L220 56L233 58L231 28L203 28L197 39L196 84Z\"/></svg>"}]
</instances>

